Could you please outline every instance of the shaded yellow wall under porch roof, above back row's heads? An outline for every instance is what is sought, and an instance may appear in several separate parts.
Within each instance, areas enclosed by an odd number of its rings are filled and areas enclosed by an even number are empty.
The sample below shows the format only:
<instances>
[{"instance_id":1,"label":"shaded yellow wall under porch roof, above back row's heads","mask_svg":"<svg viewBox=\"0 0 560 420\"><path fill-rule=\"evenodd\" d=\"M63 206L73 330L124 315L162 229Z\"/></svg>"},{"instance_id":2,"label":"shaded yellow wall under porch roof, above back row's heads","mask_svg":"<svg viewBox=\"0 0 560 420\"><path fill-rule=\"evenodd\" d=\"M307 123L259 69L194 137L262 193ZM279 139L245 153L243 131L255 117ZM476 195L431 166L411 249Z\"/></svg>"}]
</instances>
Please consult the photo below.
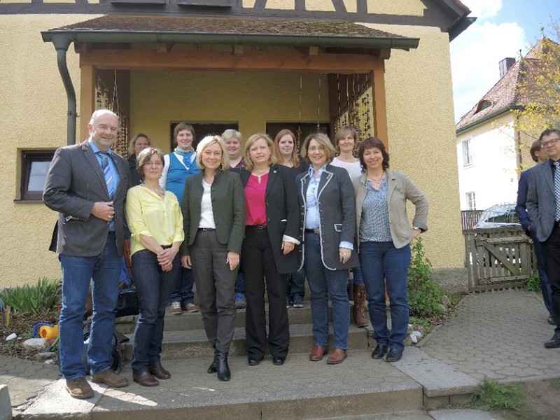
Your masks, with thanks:
<instances>
[{"instance_id":1,"label":"shaded yellow wall under porch roof, above back row's heads","mask_svg":"<svg viewBox=\"0 0 560 420\"><path fill-rule=\"evenodd\" d=\"M321 122L328 122L326 76L305 73L301 77L301 121L315 123L320 113ZM267 122L299 120L300 74L296 73L131 71L130 91L130 132L145 132L165 152L171 123L238 123L245 140L265 132Z\"/></svg>"}]
</instances>

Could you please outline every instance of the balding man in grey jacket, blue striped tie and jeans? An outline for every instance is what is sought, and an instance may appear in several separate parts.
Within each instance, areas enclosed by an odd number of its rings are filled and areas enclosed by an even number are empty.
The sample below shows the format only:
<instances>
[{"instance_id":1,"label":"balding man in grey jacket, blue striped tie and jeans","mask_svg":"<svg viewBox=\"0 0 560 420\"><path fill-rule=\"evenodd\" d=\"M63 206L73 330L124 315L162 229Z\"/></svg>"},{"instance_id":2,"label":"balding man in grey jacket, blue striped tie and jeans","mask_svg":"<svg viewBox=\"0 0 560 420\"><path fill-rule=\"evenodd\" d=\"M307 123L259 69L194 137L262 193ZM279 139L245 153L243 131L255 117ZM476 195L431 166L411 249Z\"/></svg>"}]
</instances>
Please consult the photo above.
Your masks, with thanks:
<instances>
[{"instance_id":1,"label":"balding man in grey jacket, blue striped tie and jeans","mask_svg":"<svg viewBox=\"0 0 560 420\"><path fill-rule=\"evenodd\" d=\"M111 151L118 116L106 109L92 114L89 139L59 148L50 165L43 201L58 211L57 249L62 266L59 318L60 371L73 398L90 398L85 380L83 314L90 281L93 315L87 361L92 382L116 388L128 381L111 370L118 282L124 251L124 203L129 169Z\"/></svg>"}]
</instances>

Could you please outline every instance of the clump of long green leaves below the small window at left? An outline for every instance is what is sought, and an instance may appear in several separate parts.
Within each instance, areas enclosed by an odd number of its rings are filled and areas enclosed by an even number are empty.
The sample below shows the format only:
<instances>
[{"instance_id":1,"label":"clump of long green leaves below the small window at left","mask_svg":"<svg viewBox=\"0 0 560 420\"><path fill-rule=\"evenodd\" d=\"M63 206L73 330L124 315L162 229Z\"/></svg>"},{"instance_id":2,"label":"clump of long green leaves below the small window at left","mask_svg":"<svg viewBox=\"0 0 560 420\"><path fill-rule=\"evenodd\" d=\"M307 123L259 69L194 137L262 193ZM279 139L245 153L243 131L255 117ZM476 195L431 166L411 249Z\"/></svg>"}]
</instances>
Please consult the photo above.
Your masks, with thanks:
<instances>
[{"instance_id":1,"label":"clump of long green leaves below the small window at left","mask_svg":"<svg viewBox=\"0 0 560 420\"><path fill-rule=\"evenodd\" d=\"M36 286L26 284L0 291L0 298L14 314L52 311L60 304L59 280L39 279Z\"/></svg>"}]
</instances>

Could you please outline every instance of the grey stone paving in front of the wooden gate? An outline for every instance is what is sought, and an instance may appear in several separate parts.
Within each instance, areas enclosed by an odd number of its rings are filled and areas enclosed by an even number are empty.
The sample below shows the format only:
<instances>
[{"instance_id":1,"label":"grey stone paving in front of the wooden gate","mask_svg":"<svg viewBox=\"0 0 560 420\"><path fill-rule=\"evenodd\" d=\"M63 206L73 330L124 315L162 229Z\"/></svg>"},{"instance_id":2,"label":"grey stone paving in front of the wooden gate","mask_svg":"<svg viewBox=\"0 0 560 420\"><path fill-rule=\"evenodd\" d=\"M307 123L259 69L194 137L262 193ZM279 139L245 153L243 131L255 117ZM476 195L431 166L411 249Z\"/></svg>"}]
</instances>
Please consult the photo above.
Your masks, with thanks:
<instances>
[{"instance_id":1,"label":"grey stone paving in front of the wooden gate","mask_svg":"<svg viewBox=\"0 0 560 420\"><path fill-rule=\"evenodd\" d=\"M554 334L547 316L538 293L471 294L418 347L478 381L560 377L560 349L543 346Z\"/></svg>"}]
</instances>

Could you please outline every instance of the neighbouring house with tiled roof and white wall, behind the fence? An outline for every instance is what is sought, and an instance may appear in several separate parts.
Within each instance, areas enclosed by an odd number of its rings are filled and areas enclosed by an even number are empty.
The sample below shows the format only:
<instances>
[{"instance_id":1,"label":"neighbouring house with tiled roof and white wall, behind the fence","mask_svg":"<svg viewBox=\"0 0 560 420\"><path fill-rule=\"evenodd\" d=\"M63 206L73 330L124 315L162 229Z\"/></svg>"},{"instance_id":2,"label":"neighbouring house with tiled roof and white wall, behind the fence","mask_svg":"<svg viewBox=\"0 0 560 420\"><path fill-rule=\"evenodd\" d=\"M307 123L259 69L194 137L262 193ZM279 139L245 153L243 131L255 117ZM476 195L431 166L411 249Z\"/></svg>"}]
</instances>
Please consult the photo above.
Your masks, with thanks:
<instances>
[{"instance_id":1,"label":"neighbouring house with tiled roof and white wall, behind the fence","mask_svg":"<svg viewBox=\"0 0 560 420\"><path fill-rule=\"evenodd\" d=\"M484 210L517 199L519 169L533 166L528 150L534 138L517 130L514 123L521 117L516 111L540 97L535 80L545 42L558 46L542 38L517 62L503 59L498 83L456 124L461 210Z\"/></svg>"}]
</instances>

